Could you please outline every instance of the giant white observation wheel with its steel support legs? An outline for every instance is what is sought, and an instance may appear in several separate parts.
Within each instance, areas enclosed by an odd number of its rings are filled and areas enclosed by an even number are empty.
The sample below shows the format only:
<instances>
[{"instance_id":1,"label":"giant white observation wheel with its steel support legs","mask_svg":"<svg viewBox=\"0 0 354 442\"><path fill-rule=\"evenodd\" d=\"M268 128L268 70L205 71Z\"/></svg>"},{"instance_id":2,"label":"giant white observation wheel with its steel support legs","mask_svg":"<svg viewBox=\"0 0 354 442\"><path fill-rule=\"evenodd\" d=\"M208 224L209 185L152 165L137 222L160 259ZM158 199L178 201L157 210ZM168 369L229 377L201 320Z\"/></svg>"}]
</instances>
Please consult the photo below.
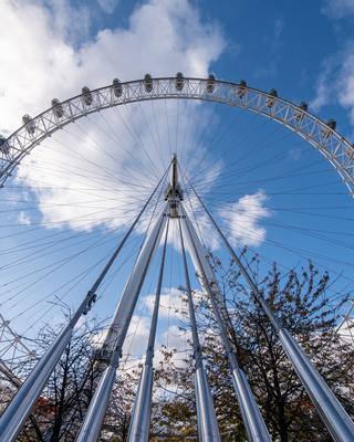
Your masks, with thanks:
<instances>
[{"instance_id":1,"label":"giant white observation wheel with its steel support legs","mask_svg":"<svg viewBox=\"0 0 354 442\"><path fill-rule=\"evenodd\" d=\"M204 107L208 105L214 106L212 110ZM263 125L258 116L280 125L274 131L274 125ZM261 120L258 126L254 118ZM127 147L125 139L129 139ZM291 148L284 148L287 143ZM129 429L129 442L148 441L154 348L169 246L180 255L180 270L175 278L181 278L187 294L199 439L221 440L198 334L192 296L196 282L218 326L248 439L271 440L229 338L232 324L227 302L209 260L210 249L217 249L238 267L250 298L271 323L332 438L353 440L351 418L302 347L279 322L263 297L250 263L240 253L243 244L250 244L249 250L266 261L274 260L274 251L282 261L290 261L290 255L299 260L299 256L309 256L303 244L311 249L321 242L319 249L311 250L320 265L334 274L341 273L342 265L351 267L353 246L345 241L343 229L352 218L344 215L343 210L344 213L351 210L348 199L354 194L354 147L336 131L334 119L322 122L309 112L305 103L295 105L279 97L275 90L266 93L249 87L244 81L238 84L219 81L212 74L207 78L185 77L181 73L153 78L146 74L139 81L115 78L111 85L96 90L85 86L80 95L63 102L54 98L48 110L35 117L24 115L23 125L10 137L0 139L0 185L2 192L8 191L7 198L12 204L9 210L20 213L18 221L24 229L32 233L38 229L34 239L15 245L9 243L4 250L13 257L7 257L3 270L20 269L19 275L7 281L0 294L3 304L12 306L10 313L15 312L11 320L31 317L33 324L29 322L21 332L25 336L39 320L53 314L53 303L39 312L38 306L44 305L41 303L52 298L62 301L77 287L86 287L86 295L75 299L74 314L4 410L0 419L1 441L17 439L74 328L83 315L97 308L104 292L110 291L110 284L118 275L126 283L119 287L119 301L110 306L114 314L111 312L97 358L102 373L77 434L80 442L98 439L132 318L160 250L146 356ZM335 182L327 181L330 170L337 173ZM291 182L284 183L289 179ZM340 192L343 185L345 192ZM18 192L15 197L14 192ZM269 198L275 201L271 208L267 208ZM333 202L336 200L340 203ZM299 206L303 201L306 204ZM274 213L283 218L272 220ZM309 223L299 225L296 217L308 219ZM277 232L275 239L267 238L264 227L269 232ZM48 229L58 230L48 233ZM284 232L305 240L289 245L284 242ZM10 233L15 238L21 234L19 230ZM142 241L139 235L144 236ZM262 244L264 250L259 251ZM341 248L347 255L336 255ZM58 255L46 262L53 250ZM33 256L39 259L38 271L32 269ZM75 260L84 256L85 265L81 261L76 269ZM24 294L37 292L37 284L55 272L64 272L66 265L70 266L67 281L56 281L58 287L52 291L45 286L44 296L30 303L25 299L23 312L18 313ZM169 267L171 273L173 265ZM95 275L94 282L87 290L92 275ZM351 299L347 296L346 304L341 301L351 282L348 273L344 288L335 287L332 297L333 308L340 305L344 314L347 330L352 325Z\"/></svg>"}]
</instances>

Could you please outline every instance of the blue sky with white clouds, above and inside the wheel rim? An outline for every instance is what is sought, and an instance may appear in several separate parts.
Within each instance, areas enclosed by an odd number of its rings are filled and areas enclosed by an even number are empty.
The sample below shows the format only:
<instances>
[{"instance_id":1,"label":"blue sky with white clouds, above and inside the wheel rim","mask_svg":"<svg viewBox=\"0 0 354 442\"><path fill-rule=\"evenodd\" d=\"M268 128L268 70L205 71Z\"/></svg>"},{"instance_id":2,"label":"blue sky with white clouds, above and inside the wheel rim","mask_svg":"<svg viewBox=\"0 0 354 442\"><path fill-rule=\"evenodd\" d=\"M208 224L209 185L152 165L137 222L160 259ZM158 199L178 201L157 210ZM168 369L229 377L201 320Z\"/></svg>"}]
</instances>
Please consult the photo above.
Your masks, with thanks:
<instances>
[{"instance_id":1,"label":"blue sky with white clouds, above and inside the wheel rim","mask_svg":"<svg viewBox=\"0 0 354 442\"><path fill-rule=\"evenodd\" d=\"M8 21L0 30L0 131L4 135L20 126L24 113L35 115L52 97L65 99L83 85L94 88L115 76L127 81L145 72L159 76L183 71L192 76L214 72L218 78L235 82L244 78L264 91L275 87L280 96L294 103L306 101L321 118L335 117L339 131L353 138L352 1L22 0L3 1L0 15ZM20 333L35 333L45 320L62 320L55 291L70 306L77 305L95 273L87 271L70 291L70 284L61 285L113 249L135 208L154 187L152 173L160 173L168 162L175 147L170 145L179 148L187 172L208 152L204 168L191 178L235 246L248 243L250 253L264 257L262 272L273 260L285 271L312 257L333 278L341 275L329 296L337 299L337 291L352 290L353 201L332 167L310 145L238 109L169 103L166 119L163 103L152 106L110 110L67 127L35 148L1 189L1 308ZM103 129L112 131L110 137ZM136 137L148 148L156 170L144 160ZM154 146L157 137L162 150ZM214 139L218 139L215 146ZM105 149L114 155L114 162ZM133 152L132 159L126 150ZM210 170L214 176L206 183ZM133 188L134 193L132 186L137 181L140 188ZM205 219L198 222L204 239L226 264L227 256ZM133 238L122 262L132 255L132 264L145 227ZM100 242L102 235L106 242ZM98 245L92 245L95 241ZM80 259L74 256L90 245ZM40 257L33 259L32 253ZM60 260L70 261L48 273ZM101 294L104 302L96 308L101 318L112 314L128 264L113 274ZM155 270L134 317L135 335L143 337L150 313L146 296L154 292ZM174 250L168 272L165 301L173 305L175 288L183 283ZM167 312L160 334L166 336L159 344L173 339L168 330L178 324L174 307Z\"/></svg>"}]
</instances>

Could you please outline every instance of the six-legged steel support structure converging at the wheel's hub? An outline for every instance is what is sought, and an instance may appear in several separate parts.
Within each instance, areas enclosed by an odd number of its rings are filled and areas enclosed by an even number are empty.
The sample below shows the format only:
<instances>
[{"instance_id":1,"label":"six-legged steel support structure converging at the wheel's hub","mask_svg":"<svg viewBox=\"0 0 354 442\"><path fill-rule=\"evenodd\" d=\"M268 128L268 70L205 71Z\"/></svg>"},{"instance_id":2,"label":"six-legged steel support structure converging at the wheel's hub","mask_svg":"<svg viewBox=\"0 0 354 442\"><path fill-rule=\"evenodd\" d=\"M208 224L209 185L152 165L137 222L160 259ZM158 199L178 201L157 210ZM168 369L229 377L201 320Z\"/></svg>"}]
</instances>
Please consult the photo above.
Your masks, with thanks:
<instances>
[{"instance_id":1,"label":"six-legged steel support structure converging at the wheel's hub","mask_svg":"<svg viewBox=\"0 0 354 442\"><path fill-rule=\"evenodd\" d=\"M155 225L149 232L143 249L138 255L138 259L133 267L132 274L125 285L121 302L118 303L114 313L108 333L105 337L100 355L100 369L101 377L97 382L97 387L93 399L90 403L87 413L85 415L83 425L76 442L95 442L97 441L101 432L101 428L106 413L107 403L113 390L114 381L116 378L116 370L119 365L123 344L134 314L136 303L138 301L145 276L148 272L149 265L154 259L155 252L160 243L163 232L166 232L165 246L164 246L164 260L166 253L167 242L167 221L175 220L178 222L181 251L185 267L186 288L188 295L189 317L192 332L192 345L195 356L195 386L196 386L196 403L198 414L198 432L199 439L202 442L219 442L220 435L216 419L216 413L212 404L212 399L208 386L207 376L204 369L202 355L200 351L199 337L197 332L196 316L194 309L194 303L191 297L190 281L188 275L187 257L185 252L185 242L188 245L189 254L194 262L197 274L201 282L202 288L208 295L211 311L215 319L218 324L220 337L228 356L233 388L238 399L238 403L241 410L244 428L247 430L248 439L251 442L270 442L270 435L257 406L247 377L239 366L236 354L230 344L228 336L228 326L232 327L232 324L228 324L227 307L221 297L221 293L218 290L215 274L208 260L206 259L205 251L201 246L200 240L196 233L196 230L190 221L187 212L183 207L184 194L178 182L177 173L177 157L174 156L171 161L171 175L170 182L167 188L165 200L166 207L159 214ZM165 173L166 175L166 173ZM159 181L162 183L165 175ZM0 442L13 442L21 431L25 419L28 418L37 398L43 390L50 375L52 373L59 358L61 357L65 346L71 339L73 329L82 314L86 314L93 303L95 302L95 292L101 285L106 273L113 265L115 259L119 254L123 245L125 244L128 235L132 233L134 227L142 217L145 208L155 194L158 186L155 188L153 194L149 197L146 204L143 207L138 217L132 224L131 229L117 246L114 254L108 260L106 266L100 274L98 278L93 284L92 288L87 292L85 298L74 313L72 319L58 335L56 339L43 355L39 364L35 366L31 375L24 381L20 388L18 394L14 397L12 402L6 409L4 413L0 419ZM295 371L303 386L306 388L309 396L313 403L317 408L320 415L327 427L331 435L336 442L353 442L354 435L354 423L345 412L344 408L340 404L333 392L326 386L325 381L309 361L308 357L295 341L295 339L279 324L277 317L270 309L269 305L259 292L254 281L243 266L240 259L232 250L227 238L221 232L220 228L207 210L201 199L196 193L202 208L206 210L211 223L220 234L227 250L231 254L233 261L239 266L240 272L249 283L252 295L260 304L261 308L268 316L272 326L279 335L281 344L291 360ZM169 222L169 221L168 221ZM165 230L166 229L166 230ZM163 262L164 262L163 260ZM156 305L154 308L154 315L152 320L152 329L149 336L149 345L146 354L145 367L142 372L142 379L139 383L138 394L136 398L134 417L129 433L129 442L137 442L148 440L148 427L150 419L150 402L152 402L152 387L153 387L153 351L154 340L156 334L156 324L158 315L158 299L162 291L162 278L163 278L163 264L160 269L160 275L156 293ZM226 324L226 323L227 324Z\"/></svg>"}]
</instances>

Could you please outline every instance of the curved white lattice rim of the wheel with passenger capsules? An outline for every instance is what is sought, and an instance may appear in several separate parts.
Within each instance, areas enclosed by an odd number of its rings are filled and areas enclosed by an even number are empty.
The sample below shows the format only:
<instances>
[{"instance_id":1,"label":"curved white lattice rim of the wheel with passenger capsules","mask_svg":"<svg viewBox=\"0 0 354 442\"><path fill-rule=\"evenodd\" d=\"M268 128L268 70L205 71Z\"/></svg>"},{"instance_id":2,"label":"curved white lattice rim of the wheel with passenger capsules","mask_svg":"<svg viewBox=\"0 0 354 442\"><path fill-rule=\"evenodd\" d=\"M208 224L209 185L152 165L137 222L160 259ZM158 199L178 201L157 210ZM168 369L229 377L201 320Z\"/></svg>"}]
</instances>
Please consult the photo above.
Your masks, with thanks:
<instances>
[{"instance_id":1,"label":"curved white lattice rim of the wheel with passenger capsules","mask_svg":"<svg viewBox=\"0 0 354 442\"><path fill-rule=\"evenodd\" d=\"M114 106L150 99L185 98L216 102L251 110L278 122L313 145L335 168L354 194L354 148L335 130L335 123L324 123L306 110L280 98L274 91L266 93L248 87L246 82L231 83L183 76L121 83L83 93L65 102L53 99L53 106L34 118L25 115L23 126L8 139L0 139L0 187L24 156L55 130L76 119ZM333 124L334 123L334 124Z\"/></svg>"}]
</instances>

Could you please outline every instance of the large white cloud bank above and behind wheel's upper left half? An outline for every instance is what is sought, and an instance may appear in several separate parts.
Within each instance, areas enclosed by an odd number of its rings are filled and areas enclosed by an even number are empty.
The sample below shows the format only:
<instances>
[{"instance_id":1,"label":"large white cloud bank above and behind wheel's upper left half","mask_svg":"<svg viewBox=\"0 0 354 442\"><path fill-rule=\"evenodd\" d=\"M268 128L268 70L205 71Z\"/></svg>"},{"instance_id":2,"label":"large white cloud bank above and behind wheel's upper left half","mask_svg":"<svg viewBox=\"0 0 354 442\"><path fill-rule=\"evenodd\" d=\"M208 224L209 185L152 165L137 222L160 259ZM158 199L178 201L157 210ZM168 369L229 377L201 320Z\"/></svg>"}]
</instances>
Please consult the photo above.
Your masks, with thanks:
<instances>
[{"instance_id":1,"label":"large white cloud bank above and behind wheel's upper left half","mask_svg":"<svg viewBox=\"0 0 354 442\"><path fill-rule=\"evenodd\" d=\"M56 0L51 8L46 4L0 3L0 15L8 23L0 30L0 133L9 134L23 114L35 115L49 107L52 97L65 99L83 85L94 88L116 76L133 80L145 72L206 76L225 45L218 28L201 22L187 0L150 0L135 9L126 28L105 29L85 41L90 12L73 9L66 0ZM73 20L81 29L80 39L69 35ZM195 103L174 102L168 103L174 117L168 128L163 104L156 104L153 113L147 103L92 116L37 147L22 161L19 179L33 188L43 221L84 229L87 220L92 228L100 223L119 227L131 219L132 207L138 206L132 201L149 194L174 151L177 110L180 125L190 123L185 145L191 146L192 128L206 110ZM154 122L164 123L156 128ZM194 152L191 165L200 156L202 147Z\"/></svg>"}]
</instances>

